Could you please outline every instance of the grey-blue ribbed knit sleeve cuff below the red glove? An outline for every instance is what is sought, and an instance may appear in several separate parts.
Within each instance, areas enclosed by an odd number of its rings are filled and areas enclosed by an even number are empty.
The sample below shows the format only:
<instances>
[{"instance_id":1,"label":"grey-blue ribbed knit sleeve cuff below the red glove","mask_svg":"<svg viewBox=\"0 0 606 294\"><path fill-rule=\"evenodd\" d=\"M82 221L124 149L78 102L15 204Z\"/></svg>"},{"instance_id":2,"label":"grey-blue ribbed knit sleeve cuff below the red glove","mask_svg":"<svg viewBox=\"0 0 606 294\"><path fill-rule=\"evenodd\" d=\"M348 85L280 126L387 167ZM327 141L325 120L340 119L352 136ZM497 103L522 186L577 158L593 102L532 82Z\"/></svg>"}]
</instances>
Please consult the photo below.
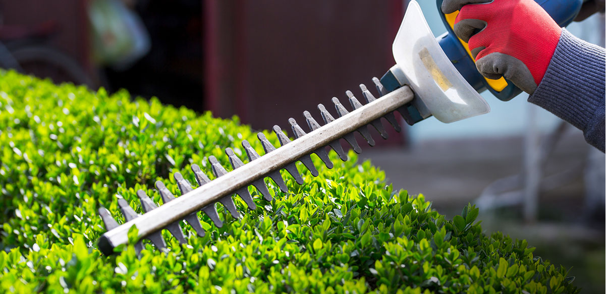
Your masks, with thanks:
<instances>
[{"instance_id":1,"label":"grey-blue ribbed knit sleeve cuff below the red glove","mask_svg":"<svg viewBox=\"0 0 606 294\"><path fill-rule=\"evenodd\" d=\"M547 72L528 102L581 129L604 152L605 50L562 30Z\"/></svg>"}]
</instances>

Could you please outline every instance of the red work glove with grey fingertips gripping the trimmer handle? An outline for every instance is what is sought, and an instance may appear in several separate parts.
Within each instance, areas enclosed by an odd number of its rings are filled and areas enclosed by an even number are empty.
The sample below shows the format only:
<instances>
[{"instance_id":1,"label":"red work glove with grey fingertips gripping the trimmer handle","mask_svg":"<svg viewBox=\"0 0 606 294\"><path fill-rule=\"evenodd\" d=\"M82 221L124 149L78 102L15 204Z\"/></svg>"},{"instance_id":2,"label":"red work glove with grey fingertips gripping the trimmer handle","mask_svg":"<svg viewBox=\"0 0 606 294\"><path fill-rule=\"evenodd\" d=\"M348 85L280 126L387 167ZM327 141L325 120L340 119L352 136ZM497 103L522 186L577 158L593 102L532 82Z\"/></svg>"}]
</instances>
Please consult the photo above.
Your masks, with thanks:
<instances>
[{"instance_id":1,"label":"red work glove with grey fingertips gripping the trimmer handle","mask_svg":"<svg viewBox=\"0 0 606 294\"><path fill-rule=\"evenodd\" d=\"M454 33L468 42L478 71L504 76L532 94L556 50L562 28L533 0L444 0L442 12L460 10Z\"/></svg>"}]
</instances>

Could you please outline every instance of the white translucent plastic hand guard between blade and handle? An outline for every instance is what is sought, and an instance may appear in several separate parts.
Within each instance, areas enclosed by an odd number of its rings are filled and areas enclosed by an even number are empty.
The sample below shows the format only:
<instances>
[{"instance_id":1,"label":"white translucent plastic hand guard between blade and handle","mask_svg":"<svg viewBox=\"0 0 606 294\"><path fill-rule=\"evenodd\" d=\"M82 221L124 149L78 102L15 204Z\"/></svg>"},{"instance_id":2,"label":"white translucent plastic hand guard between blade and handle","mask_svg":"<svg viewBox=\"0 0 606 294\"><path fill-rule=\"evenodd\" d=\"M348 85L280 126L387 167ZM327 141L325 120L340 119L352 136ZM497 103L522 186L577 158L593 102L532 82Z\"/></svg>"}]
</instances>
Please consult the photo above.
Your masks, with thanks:
<instances>
[{"instance_id":1,"label":"white translucent plastic hand guard between blade and handle","mask_svg":"<svg viewBox=\"0 0 606 294\"><path fill-rule=\"evenodd\" d=\"M441 122L454 122L490 112L484 98L454 68L415 0L408 3L392 50L399 70L391 72L421 99L421 115L427 111Z\"/></svg>"}]
</instances>

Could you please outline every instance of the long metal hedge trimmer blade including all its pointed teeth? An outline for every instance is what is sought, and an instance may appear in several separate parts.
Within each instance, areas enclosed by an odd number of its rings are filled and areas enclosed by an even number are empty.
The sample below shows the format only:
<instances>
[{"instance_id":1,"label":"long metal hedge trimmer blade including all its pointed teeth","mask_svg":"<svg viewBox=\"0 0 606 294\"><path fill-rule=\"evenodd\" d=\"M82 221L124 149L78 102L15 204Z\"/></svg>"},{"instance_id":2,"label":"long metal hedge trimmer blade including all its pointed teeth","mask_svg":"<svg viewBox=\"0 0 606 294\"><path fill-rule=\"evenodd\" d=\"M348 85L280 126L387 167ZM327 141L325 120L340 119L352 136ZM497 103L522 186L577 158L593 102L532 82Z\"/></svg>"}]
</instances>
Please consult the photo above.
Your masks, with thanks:
<instances>
[{"instance_id":1,"label":"long metal hedge trimmer blade including all its pointed teeth","mask_svg":"<svg viewBox=\"0 0 606 294\"><path fill-rule=\"evenodd\" d=\"M319 125L318 122L307 111L304 112L305 120L311 130L305 133L297 124L295 119L288 119L291 129L295 135L295 140L290 141L288 136L282 132L282 129L275 125L273 131L278 135L281 147L277 148L265 138L265 135L258 133L258 138L263 145L265 155L259 156L249 142L242 141L242 147L248 156L248 163L244 164L232 149L225 150L233 170L227 172L219 163L215 156L209 156L208 161L211 164L213 174L216 179L210 181L197 164L191 165L198 188L193 189L190 182L183 178L181 173L175 173L175 180L181 191L178 198L161 182L156 182L156 189L161 195L162 204L156 206L153 201L145 194L143 190L138 190L137 196L141 200L143 215L138 215L135 210L128 205L125 199L118 199L118 204L122 214L125 217L124 224L119 225L112 218L110 212L104 207L99 208L99 215L105 224L105 232L98 241L99 250L105 255L114 252L116 246L128 242L128 230L136 225L138 229L138 238L147 238L155 244L156 247L164 249L166 242L162 238L161 230L167 229L181 244L184 244L185 236L179 223L185 220L196 230L199 236L204 236L201 223L196 213L201 210L215 223L215 226L222 227L223 223L219 218L215 204L221 202L225 209L231 213L234 218L239 218L240 213L236 209L231 196L238 194L248 205L248 209L256 209L255 202L248 192L248 185L253 185L261 195L267 200L271 200L271 194L265 185L264 178L271 178L282 192L288 192L287 185L279 173L280 169L287 170L298 184L303 184L303 178L299 174L295 162L300 161L310 171L311 175L318 176L318 170L311 161L311 153L315 153L331 169L333 162L328 158L325 147L331 147L343 161L347 160L347 155L339 139L347 141L356 153L361 152L361 148L356 142L353 132L359 132L369 145L375 145L375 141L368 132L368 125L372 125L381 134L382 138L387 139L387 132L381 124L381 118L387 119L391 125L400 131L400 126L394 116L394 111L398 111L402 116L407 115L405 105L412 101L414 95L408 86L401 87L390 93L385 93L379 79L373 78L381 98L376 99L364 85L360 85L362 95L367 104L362 105L353 93L347 91L347 96L353 110L347 109L339 102L339 99L333 98L336 111L339 118L335 119L328 112L324 105L319 104L318 109L321 112L325 124ZM143 249L141 241L135 245L139 252Z\"/></svg>"}]
</instances>

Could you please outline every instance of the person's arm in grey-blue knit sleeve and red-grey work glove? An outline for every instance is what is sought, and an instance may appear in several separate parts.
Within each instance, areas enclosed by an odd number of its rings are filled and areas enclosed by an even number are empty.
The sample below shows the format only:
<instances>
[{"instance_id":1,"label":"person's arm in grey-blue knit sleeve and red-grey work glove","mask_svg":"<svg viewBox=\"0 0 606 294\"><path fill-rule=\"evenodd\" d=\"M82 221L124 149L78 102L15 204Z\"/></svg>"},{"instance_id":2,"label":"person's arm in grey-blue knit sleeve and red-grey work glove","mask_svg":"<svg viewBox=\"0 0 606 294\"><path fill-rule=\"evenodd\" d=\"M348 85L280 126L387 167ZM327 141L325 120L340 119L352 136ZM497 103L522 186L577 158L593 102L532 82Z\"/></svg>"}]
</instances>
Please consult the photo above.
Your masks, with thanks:
<instances>
[{"instance_id":1,"label":"person's arm in grey-blue knit sleeve and red-grey work glove","mask_svg":"<svg viewBox=\"0 0 606 294\"><path fill-rule=\"evenodd\" d=\"M454 33L482 75L504 76L604 152L604 48L562 30L533 0L442 2L442 12L456 10Z\"/></svg>"}]
</instances>

